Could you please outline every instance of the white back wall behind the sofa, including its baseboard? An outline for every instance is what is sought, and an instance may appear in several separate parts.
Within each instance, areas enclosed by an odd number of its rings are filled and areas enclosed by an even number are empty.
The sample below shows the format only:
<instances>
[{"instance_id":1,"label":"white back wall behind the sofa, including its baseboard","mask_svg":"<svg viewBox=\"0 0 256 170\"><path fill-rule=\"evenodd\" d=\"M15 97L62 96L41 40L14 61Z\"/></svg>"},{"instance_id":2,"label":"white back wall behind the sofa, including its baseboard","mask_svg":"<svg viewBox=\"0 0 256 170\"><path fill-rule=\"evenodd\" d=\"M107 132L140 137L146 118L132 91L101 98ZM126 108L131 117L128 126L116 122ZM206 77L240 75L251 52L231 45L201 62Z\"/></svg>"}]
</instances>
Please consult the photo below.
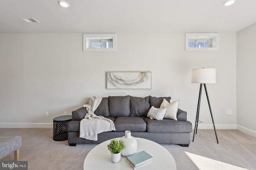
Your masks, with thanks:
<instances>
[{"instance_id":1,"label":"white back wall behind the sofa, including its baseboard","mask_svg":"<svg viewBox=\"0 0 256 170\"><path fill-rule=\"evenodd\" d=\"M220 51L184 51L184 41L183 32L118 33L117 51L83 52L82 33L0 34L0 127L49 127L88 97L118 95L180 99L194 124L200 85L191 70L205 67L216 68L217 83L207 84L216 127L236 129L236 33L220 33ZM151 71L152 89L108 90L107 71ZM205 92L200 120L211 122Z\"/></svg>"}]
</instances>

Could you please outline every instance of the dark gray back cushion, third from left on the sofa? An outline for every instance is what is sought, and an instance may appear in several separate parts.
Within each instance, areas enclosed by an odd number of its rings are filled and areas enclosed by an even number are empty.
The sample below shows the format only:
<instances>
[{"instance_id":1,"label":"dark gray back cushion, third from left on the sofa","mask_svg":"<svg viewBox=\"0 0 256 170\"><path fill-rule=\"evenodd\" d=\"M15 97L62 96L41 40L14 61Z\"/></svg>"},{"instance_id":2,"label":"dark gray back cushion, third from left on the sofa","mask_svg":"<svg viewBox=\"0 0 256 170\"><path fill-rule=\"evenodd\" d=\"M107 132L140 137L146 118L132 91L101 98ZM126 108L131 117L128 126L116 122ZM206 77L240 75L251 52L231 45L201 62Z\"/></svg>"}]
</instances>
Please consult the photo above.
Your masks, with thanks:
<instances>
[{"instance_id":1,"label":"dark gray back cushion, third from left on the sofa","mask_svg":"<svg viewBox=\"0 0 256 170\"><path fill-rule=\"evenodd\" d=\"M130 96L130 116L146 117L149 110L149 98Z\"/></svg>"}]
</instances>

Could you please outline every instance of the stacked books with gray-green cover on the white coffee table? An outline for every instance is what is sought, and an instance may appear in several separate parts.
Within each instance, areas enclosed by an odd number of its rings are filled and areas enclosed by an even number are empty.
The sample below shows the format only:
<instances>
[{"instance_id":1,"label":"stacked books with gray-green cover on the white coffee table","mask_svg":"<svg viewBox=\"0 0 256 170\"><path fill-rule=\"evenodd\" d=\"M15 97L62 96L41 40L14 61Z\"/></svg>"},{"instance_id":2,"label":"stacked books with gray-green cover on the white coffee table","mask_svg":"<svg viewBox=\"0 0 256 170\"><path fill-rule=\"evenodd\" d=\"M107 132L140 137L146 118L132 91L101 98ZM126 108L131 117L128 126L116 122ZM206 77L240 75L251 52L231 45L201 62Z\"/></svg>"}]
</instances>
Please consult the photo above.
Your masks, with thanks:
<instances>
[{"instance_id":1,"label":"stacked books with gray-green cover on the white coffee table","mask_svg":"<svg viewBox=\"0 0 256 170\"><path fill-rule=\"evenodd\" d=\"M153 156L145 152L144 150L141 152L138 152L136 154L132 154L130 156L127 156L126 162L133 168L136 169L147 162L153 160Z\"/></svg>"}]
</instances>

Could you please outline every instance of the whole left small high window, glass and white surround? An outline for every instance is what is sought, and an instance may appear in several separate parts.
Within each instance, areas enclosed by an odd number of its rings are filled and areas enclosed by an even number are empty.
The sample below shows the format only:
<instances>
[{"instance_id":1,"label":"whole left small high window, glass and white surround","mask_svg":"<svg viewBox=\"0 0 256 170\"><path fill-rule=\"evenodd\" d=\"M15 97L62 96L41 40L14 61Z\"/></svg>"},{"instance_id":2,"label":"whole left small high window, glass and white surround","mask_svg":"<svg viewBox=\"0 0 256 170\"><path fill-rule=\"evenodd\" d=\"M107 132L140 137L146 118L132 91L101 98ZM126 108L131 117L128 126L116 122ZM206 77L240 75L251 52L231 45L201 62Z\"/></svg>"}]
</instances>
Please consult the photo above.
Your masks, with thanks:
<instances>
[{"instance_id":1,"label":"whole left small high window, glass and white surround","mask_svg":"<svg viewBox=\"0 0 256 170\"><path fill-rule=\"evenodd\" d=\"M83 51L116 51L115 34L83 34Z\"/></svg>"}]
</instances>

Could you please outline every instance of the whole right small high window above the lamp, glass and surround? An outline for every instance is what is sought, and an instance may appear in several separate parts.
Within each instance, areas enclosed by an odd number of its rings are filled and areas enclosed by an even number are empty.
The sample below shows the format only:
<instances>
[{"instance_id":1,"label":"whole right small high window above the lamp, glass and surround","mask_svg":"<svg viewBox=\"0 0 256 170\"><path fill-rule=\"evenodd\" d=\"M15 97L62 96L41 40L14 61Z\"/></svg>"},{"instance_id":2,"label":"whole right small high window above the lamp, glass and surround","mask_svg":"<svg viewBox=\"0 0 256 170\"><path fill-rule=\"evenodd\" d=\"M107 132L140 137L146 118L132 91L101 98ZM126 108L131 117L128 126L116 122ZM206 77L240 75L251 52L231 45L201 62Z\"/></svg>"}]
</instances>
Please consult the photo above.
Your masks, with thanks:
<instances>
[{"instance_id":1,"label":"whole right small high window above the lamp, glass and surround","mask_svg":"<svg viewBox=\"0 0 256 170\"><path fill-rule=\"evenodd\" d=\"M186 33L186 51L218 51L219 33Z\"/></svg>"}]
</instances>

